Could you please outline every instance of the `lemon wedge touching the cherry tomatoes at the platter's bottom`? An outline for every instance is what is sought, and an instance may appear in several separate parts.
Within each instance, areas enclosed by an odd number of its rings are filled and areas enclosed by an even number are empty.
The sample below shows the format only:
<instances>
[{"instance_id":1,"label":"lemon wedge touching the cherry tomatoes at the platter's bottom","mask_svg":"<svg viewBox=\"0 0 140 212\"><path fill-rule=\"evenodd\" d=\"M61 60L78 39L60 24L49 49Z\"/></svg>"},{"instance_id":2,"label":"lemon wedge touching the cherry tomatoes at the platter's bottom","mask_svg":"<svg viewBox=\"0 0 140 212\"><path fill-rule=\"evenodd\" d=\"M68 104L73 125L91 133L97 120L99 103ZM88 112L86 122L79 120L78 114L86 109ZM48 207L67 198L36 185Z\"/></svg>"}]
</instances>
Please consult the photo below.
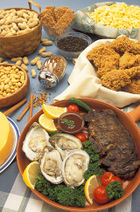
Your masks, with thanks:
<instances>
[{"instance_id":1,"label":"lemon wedge touching the cherry tomatoes at the platter's bottom","mask_svg":"<svg viewBox=\"0 0 140 212\"><path fill-rule=\"evenodd\" d=\"M99 182L96 175L92 175L85 183L85 196L91 205L93 204L93 191L97 186L99 186Z\"/></svg>"}]
</instances>

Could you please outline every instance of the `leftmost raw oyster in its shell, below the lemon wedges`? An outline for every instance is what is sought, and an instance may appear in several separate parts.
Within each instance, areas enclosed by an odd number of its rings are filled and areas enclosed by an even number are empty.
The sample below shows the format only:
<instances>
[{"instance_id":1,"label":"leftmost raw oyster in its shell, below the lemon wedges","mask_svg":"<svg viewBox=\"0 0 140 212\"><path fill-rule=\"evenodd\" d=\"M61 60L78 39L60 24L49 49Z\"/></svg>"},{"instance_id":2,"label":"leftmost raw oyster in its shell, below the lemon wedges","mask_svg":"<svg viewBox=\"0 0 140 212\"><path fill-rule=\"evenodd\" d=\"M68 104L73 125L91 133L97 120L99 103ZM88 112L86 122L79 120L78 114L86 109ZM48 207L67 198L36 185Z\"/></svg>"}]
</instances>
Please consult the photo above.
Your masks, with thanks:
<instances>
[{"instance_id":1,"label":"leftmost raw oyster in its shell, below the lemon wedges","mask_svg":"<svg viewBox=\"0 0 140 212\"><path fill-rule=\"evenodd\" d=\"M47 131L34 122L23 141L23 152L29 160L39 160L47 147L53 148Z\"/></svg>"}]
</instances>

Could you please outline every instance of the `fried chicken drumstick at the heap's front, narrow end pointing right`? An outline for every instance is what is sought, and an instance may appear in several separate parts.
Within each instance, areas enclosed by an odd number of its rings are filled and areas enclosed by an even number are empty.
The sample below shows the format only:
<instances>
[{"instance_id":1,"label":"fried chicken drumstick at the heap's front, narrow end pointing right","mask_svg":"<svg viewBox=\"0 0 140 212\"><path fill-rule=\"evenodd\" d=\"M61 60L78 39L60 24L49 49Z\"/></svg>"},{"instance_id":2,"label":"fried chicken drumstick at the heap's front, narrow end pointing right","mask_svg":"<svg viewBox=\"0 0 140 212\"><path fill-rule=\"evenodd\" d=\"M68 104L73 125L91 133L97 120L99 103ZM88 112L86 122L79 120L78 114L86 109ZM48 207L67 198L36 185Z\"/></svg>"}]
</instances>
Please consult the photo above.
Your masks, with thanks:
<instances>
[{"instance_id":1,"label":"fried chicken drumstick at the heap's front, narrow end pointing right","mask_svg":"<svg viewBox=\"0 0 140 212\"><path fill-rule=\"evenodd\" d=\"M101 77L101 83L103 86L111 90L121 90L121 88L129 85L131 79L140 75L140 66L130 69L114 69L107 72Z\"/></svg>"}]
</instances>

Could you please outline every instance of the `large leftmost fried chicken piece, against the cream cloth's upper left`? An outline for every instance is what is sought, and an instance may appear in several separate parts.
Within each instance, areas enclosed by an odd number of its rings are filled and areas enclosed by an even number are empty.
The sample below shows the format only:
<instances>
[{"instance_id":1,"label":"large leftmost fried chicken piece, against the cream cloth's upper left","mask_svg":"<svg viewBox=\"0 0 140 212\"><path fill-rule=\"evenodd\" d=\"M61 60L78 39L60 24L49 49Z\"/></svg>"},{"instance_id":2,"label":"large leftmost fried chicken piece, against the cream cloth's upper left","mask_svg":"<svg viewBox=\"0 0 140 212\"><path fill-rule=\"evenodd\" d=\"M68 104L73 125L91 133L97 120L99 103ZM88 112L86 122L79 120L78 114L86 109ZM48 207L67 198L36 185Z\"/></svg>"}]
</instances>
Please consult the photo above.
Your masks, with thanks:
<instances>
[{"instance_id":1,"label":"large leftmost fried chicken piece, against the cream cloth's upper left","mask_svg":"<svg viewBox=\"0 0 140 212\"><path fill-rule=\"evenodd\" d=\"M101 77L108 71L118 68L120 55L109 44L94 47L87 54L87 59L98 68L97 75Z\"/></svg>"}]
</instances>

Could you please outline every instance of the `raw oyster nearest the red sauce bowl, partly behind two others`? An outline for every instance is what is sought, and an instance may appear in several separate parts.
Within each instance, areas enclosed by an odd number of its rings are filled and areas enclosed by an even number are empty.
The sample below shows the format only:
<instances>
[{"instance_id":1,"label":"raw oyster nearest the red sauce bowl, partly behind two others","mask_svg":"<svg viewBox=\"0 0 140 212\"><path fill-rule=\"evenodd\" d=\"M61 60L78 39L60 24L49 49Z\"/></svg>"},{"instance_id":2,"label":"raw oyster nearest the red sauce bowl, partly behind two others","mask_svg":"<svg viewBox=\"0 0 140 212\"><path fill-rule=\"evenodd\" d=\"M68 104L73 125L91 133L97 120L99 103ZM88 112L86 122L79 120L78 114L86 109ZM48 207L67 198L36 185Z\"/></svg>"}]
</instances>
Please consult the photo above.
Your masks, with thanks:
<instances>
[{"instance_id":1,"label":"raw oyster nearest the red sauce bowl, partly behind two others","mask_svg":"<svg viewBox=\"0 0 140 212\"><path fill-rule=\"evenodd\" d=\"M72 150L82 148L82 143L78 138L66 133L58 133L50 137L49 142L60 152L63 159Z\"/></svg>"}]
</instances>

